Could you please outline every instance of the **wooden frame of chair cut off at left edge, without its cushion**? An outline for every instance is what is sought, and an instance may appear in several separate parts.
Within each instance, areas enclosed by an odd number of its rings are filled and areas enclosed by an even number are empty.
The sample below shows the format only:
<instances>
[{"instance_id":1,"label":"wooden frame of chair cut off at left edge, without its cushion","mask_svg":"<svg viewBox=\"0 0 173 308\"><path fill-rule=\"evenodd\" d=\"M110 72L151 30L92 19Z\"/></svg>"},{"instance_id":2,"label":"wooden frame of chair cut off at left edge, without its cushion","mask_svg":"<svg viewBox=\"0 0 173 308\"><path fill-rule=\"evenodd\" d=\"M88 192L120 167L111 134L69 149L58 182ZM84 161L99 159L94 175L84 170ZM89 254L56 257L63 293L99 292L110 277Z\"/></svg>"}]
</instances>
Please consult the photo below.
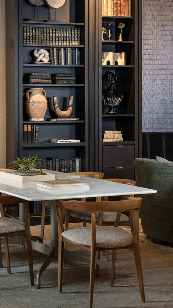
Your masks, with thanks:
<instances>
[{"instance_id":1,"label":"wooden frame of chair cut off at left edge, without its cushion","mask_svg":"<svg viewBox=\"0 0 173 308\"><path fill-rule=\"evenodd\" d=\"M29 270L30 270L30 282L31 286L34 286L34 271L33 271L33 257L32 257L32 245L31 245L31 234L30 234L30 208L29 202L23 199L19 199L17 197L12 196L0 196L0 210L1 216L6 217L5 215L5 207L10 205L18 206L19 203L26 204L26 211L25 211L25 230L23 231L16 231L16 232L9 232L9 233L0 233L0 238L3 237L4 239L4 247L5 247L5 255L6 255L6 265L7 265L7 272L10 274L10 257L9 257L9 245L8 245L8 237L13 236L20 236L23 235L26 237L27 243L27 251L28 251L28 261L29 261ZM8 218L6 218L8 219ZM15 218L14 218L15 219ZM1 253L1 245L0 245L0 268L2 268L2 253Z\"/></svg>"}]
</instances>

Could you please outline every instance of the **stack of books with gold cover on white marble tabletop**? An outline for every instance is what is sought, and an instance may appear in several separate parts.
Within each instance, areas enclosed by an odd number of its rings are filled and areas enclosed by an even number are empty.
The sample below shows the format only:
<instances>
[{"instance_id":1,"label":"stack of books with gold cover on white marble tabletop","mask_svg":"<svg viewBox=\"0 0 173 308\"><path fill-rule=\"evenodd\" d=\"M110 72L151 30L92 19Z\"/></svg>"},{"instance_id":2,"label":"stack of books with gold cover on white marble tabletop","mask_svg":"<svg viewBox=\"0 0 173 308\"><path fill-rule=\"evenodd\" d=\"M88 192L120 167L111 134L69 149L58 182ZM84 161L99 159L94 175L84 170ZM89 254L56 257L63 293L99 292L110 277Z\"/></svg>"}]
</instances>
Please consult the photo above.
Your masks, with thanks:
<instances>
[{"instance_id":1,"label":"stack of books with gold cover on white marble tabletop","mask_svg":"<svg viewBox=\"0 0 173 308\"><path fill-rule=\"evenodd\" d=\"M37 187L51 189L51 190L77 190L84 191L89 190L90 185L85 184L83 182L62 179L62 180L54 180L54 181L38 181Z\"/></svg>"}]
</instances>

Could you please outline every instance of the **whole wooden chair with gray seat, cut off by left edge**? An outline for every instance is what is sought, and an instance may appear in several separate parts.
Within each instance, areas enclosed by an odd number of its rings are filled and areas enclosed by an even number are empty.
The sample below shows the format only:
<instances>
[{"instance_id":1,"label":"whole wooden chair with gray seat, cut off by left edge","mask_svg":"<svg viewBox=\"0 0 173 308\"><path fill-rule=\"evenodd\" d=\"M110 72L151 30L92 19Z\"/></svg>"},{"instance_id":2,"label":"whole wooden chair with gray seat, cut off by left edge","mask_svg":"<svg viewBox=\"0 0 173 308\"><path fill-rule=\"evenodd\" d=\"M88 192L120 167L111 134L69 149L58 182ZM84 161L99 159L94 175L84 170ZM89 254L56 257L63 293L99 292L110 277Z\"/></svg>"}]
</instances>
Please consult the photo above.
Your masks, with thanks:
<instances>
[{"instance_id":1,"label":"whole wooden chair with gray seat, cut off by left edge","mask_svg":"<svg viewBox=\"0 0 173 308\"><path fill-rule=\"evenodd\" d=\"M25 223L19 221L15 218L9 218L5 215L6 206L18 206L19 203L26 204L26 214L25 214ZM9 257L9 246L8 246L8 237L24 235L27 242L27 251L28 251L28 261L30 269L30 282L31 286L34 286L34 272L33 272L33 257L32 257L32 246L31 246L31 235L30 235L30 210L29 202L26 202L23 199L12 196L0 196L0 238L4 239L5 246L5 255L6 255L6 265L7 272L10 274L10 257ZM1 243L0 243L0 268L2 268L2 253L1 253Z\"/></svg>"}]
</instances>

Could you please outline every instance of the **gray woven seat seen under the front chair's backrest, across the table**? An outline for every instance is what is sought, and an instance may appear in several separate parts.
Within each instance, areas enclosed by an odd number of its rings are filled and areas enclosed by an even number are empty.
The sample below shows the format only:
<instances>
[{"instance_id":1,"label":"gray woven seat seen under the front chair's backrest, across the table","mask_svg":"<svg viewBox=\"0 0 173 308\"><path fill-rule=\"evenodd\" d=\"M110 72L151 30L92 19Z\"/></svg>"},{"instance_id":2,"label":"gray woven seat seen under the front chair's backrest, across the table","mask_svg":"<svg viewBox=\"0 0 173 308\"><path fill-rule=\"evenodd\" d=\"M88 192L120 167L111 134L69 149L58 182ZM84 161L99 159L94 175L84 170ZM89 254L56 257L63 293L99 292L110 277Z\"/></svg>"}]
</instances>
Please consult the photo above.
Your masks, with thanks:
<instances>
[{"instance_id":1,"label":"gray woven seat seen under the front chair's backrest, across the table","mask_svg":"<svg viewBox=\"0 0 173 308\"><path fill-rule=\"evenodd\" d=\"M91 221L91 212L78 212L78 211L71 211L70 216L78 218L78 219L85 219ZM117 217L117 213L103 213L103 221L104 222L115 222ZM99 213L95 213L95 219L98 221ZM120 221L129 221L129 217L121 214Z\"/></svg>"}]
</instances>

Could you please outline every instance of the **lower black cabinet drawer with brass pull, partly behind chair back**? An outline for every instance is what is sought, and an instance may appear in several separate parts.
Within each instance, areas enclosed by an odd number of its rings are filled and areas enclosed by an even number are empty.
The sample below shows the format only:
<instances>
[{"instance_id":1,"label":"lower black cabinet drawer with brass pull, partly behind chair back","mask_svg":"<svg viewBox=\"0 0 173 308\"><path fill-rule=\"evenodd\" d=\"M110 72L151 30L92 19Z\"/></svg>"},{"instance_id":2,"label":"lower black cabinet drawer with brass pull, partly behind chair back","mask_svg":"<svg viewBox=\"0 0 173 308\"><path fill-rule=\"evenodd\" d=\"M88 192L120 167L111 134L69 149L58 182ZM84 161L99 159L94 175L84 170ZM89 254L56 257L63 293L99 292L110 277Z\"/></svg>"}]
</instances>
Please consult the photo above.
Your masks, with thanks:
<instances>
[{"instance_id":1,"label":"lower black cabinet drawer with brass pull, partly behind chair back","mask_svg":"<svg viewBox=\"0 0 173 308\"><path fill-rule=\"evenodd\" d=\"M135 168L124 167L122 169L103 168L104 179L129 179L135 180Z\"/></svg>"}]
</instances>

